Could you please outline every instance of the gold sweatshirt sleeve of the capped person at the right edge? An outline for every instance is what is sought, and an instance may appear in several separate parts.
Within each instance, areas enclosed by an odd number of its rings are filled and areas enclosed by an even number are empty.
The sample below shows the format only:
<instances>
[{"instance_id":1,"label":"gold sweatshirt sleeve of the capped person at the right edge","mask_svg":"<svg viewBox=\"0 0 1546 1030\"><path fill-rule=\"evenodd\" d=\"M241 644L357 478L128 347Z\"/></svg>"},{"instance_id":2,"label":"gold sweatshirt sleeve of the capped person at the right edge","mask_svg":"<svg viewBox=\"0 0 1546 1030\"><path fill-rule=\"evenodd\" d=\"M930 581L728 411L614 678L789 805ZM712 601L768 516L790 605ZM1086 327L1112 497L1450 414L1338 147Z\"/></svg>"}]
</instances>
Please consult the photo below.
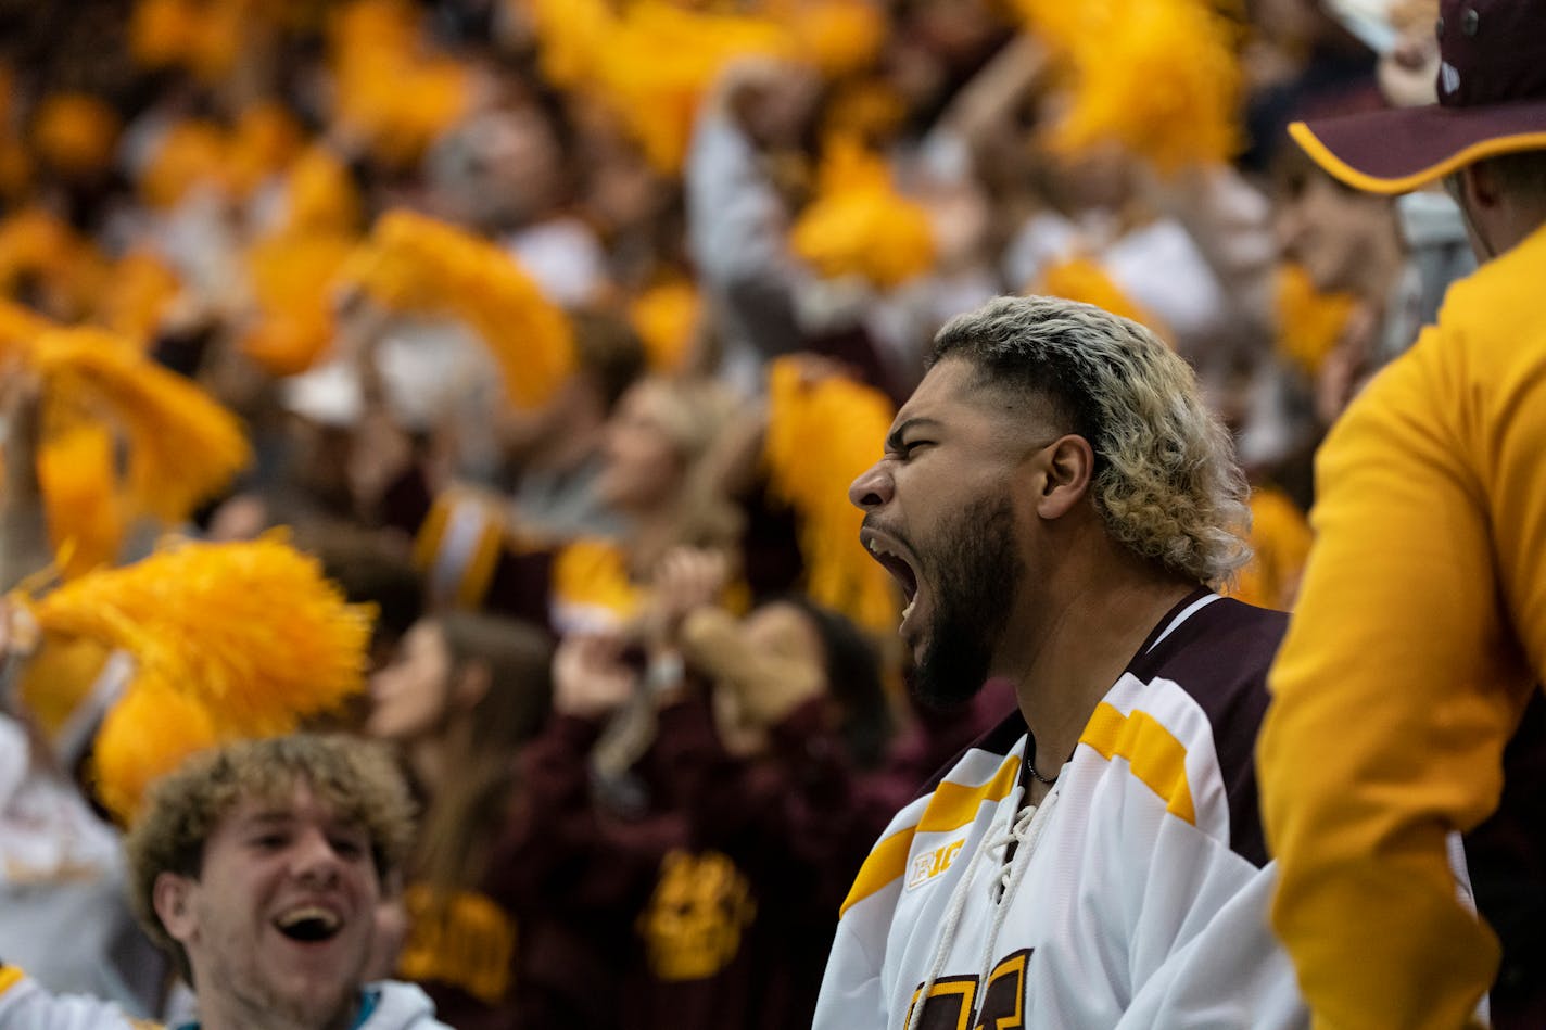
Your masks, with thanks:
<instances>
[{"instance_id":1,"label":"gold sweatshirt sleeve of the capped person at the right edge","mask_svg":"<svg viewBox=\"0 0 1546 1030\"><path fill-rule=\"evenodd\" d=\"M1272 922L1316 1027L1459 1027L1493 934L1446 837L1546 682L1546 227L1450 288L1317 458L1258 745Z\"/></svg>"}]
</instances>

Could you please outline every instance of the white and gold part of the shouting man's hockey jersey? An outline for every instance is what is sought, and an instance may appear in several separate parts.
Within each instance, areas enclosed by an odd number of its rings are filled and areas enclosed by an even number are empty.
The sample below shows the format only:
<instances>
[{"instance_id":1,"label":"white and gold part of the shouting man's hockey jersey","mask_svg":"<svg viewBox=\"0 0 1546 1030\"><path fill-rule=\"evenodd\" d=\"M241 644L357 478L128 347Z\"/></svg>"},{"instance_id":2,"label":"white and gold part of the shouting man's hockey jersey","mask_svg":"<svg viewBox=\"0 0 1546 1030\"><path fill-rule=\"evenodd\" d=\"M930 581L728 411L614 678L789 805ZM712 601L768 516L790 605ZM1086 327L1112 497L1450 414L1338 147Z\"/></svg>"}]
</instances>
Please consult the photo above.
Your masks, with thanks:
<instances>
[{"instance_id":1,"label":"white and gold part of the shouting man's hockey jersey","mask_svg":"<svg viewBox=\"0 0 1546 1030\"><path fill-rule=\"evenodd\" d=\"M1274 868L1231 846L1203 705L1125 673L1036 809L1019 725L966 752L873 848L816 1028L1305 1025L1268 928Z\"/></svg>"}]
</instances>

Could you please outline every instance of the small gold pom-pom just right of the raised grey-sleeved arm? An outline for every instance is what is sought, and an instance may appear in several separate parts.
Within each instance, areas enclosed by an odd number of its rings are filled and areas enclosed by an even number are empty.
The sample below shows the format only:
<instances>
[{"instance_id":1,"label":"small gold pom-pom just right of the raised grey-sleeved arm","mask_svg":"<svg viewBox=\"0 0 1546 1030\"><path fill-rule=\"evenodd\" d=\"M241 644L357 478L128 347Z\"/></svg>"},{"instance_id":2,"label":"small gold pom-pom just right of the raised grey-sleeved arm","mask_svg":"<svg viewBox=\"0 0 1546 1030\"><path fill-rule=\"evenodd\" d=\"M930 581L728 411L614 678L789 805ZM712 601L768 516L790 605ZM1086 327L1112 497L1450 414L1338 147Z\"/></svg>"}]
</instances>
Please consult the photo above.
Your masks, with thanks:
<instances>
[{"instance_id":1,"label":"small gold pom-pom just right of the raised grey-sleeved arm","mask_svg":"<svg viewBox=\"0 0 1546 1030\"><path fill-rule=\"evenodd\" d=\"M852 138L827 144L816 198L795 223L790 244L827 278L860 275L881 289L934 263L929 213L897 193L886 162Z\"/></svg>"}]
</instances>

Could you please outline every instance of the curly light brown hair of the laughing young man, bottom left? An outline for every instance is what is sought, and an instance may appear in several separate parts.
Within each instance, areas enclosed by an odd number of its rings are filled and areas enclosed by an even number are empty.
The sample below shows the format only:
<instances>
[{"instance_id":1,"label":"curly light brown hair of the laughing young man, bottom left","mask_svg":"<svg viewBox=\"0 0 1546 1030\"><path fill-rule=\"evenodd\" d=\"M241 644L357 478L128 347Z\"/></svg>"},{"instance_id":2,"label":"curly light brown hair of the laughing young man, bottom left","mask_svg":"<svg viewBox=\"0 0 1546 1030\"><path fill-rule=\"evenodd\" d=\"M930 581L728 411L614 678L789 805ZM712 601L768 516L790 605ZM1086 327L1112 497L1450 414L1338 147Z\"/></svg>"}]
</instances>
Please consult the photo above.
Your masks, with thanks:
<instances>
[{"instance_id":1,"label":"curly light brown hair of the laughing young man, bottom left","mask_svg":"<svg viewBox=\"0 0 1546 1030\"><path fill-rule=\"evenodd\" d=\"M156 916L156 878L176 872L198 880L204 844L221 820L244 801L288 803L300 784L335 818L365 827L382 883L402 868L413 840L414 803L385 747L342 735L295 733L198 752L156 781L124 838L130 906L190 984L187 953Z\"/></svg>"}]
</instances>

